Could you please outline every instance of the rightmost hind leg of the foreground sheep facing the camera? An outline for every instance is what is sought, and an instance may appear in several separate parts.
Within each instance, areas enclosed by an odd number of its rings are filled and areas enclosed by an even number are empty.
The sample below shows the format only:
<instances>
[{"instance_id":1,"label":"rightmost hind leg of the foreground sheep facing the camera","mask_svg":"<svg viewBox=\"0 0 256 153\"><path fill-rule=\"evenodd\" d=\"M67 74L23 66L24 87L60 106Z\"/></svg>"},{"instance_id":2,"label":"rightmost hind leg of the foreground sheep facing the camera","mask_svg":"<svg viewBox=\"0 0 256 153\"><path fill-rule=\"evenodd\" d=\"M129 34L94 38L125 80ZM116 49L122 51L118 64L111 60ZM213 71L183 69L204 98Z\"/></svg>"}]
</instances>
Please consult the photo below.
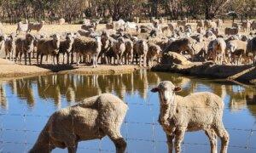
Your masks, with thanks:
<instances>
[{"instance_id":1,"label":"rightmost hind leg of the foreground sheep facing the camera","mask_svg":"<svg viewBox=\"0 0 256 153\"><path fill-rule=\"evenodd\" d=\"M215 133L221 139L221 153L227 153L228 151L228 144L230 141L229 133L225 130L224 125L222 122L217 123L214 127Z\"/></svg>"}]
</instances>

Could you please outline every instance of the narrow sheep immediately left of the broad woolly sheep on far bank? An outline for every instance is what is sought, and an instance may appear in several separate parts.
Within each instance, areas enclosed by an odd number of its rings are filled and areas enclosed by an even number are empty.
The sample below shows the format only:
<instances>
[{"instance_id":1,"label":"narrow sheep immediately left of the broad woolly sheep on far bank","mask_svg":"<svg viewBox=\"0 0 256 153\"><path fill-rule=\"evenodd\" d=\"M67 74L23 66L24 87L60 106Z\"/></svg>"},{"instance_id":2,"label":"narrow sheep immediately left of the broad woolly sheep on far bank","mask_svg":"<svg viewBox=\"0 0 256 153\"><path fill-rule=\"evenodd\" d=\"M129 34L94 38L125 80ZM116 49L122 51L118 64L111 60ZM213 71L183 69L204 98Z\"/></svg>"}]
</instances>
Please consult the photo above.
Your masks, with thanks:
<instances>
[{"instance_id":1,"label":"narrow sheep immediately left of the broad woolly sheep on far bank","mask_svg":"<svg viewBox=\"0 0 256 153\"><path fill-rule=\"evenodd\" d=\"M68 34L65 37L64 41L60 42L60 48L59 48L59 53L57 54L57 64L59 64L59 56L60 54L63 54L63 64L65 62L65 54L67 54L67 64L70 64L70 55L73 54L72 51L72 46L73 46L74 38L72 35Z\"/></svg>"}]
</instances>

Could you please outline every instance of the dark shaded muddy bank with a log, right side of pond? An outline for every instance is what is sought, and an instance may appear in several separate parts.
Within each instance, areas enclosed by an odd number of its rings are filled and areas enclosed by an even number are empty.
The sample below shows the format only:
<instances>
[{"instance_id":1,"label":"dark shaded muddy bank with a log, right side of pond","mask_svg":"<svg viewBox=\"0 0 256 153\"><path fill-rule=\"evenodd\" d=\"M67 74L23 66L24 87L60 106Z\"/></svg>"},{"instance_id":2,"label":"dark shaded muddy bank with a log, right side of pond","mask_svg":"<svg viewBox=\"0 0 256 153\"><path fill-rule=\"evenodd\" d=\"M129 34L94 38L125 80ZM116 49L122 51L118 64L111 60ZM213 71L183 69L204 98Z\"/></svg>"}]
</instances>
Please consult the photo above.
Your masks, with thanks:
<instances>
[{"instance_id":1,"label":"dark shaded muddy bank with a log, right side of pond","mask_svg":"<svg viewBox=\"0 0 256 153\"><path fill-rule=\"evenodd\" d=\"M179 73L190 77L225 79L256 85L256 67L253 65L155 65L151 71Z\"/></svg>"}]
</instances>

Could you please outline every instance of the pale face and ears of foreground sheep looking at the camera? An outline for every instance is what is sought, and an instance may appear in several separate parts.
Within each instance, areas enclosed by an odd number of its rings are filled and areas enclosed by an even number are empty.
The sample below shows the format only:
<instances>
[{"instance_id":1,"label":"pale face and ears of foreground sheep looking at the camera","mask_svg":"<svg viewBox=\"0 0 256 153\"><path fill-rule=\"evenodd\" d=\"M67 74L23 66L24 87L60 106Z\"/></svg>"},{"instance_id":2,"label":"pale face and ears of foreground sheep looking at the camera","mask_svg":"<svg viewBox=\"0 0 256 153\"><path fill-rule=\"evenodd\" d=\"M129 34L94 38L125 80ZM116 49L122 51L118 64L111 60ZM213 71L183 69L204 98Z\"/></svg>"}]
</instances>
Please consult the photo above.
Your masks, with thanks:
<instances>
[{"instance_id":1,"label":"pale face and ears of foreground sheep looking at the camera","mask_svg":"<svg viewBox=\"0 0 256 153\"><path fill-rule=\"evenodd\" d=\"M169 105L174 100L175 93L180 92L181 88L176 87L172 82L160 82L157 88L153 88L151 92L159 93L160 105Z\"/></svg>"}]
</instances>

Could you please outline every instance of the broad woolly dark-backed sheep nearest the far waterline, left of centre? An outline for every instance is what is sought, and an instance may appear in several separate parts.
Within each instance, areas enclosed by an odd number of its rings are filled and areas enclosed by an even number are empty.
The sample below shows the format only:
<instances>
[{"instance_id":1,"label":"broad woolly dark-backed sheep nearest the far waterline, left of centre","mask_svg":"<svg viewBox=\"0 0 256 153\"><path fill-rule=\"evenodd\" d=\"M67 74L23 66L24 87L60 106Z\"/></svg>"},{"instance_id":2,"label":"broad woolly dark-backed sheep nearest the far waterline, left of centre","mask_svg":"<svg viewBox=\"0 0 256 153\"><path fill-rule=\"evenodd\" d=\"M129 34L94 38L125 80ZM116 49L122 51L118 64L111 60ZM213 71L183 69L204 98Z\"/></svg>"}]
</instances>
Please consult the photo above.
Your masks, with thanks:
<instances>
[{"instance_id":1,"label":"broad woolly dark-backed sheep nearest the far waterline, left of centre","mask_svg":"<svg viewBox=\"0 0 256 153\"><path fill-rule=\"evenodd\" d=\"M93 59L93 67L97 67L97 59L102 50L101 37L77 37L73 42L73 53L76 53L77 65L80 63L80 55L91 55Z\"/></svg>"}]
</instances>

